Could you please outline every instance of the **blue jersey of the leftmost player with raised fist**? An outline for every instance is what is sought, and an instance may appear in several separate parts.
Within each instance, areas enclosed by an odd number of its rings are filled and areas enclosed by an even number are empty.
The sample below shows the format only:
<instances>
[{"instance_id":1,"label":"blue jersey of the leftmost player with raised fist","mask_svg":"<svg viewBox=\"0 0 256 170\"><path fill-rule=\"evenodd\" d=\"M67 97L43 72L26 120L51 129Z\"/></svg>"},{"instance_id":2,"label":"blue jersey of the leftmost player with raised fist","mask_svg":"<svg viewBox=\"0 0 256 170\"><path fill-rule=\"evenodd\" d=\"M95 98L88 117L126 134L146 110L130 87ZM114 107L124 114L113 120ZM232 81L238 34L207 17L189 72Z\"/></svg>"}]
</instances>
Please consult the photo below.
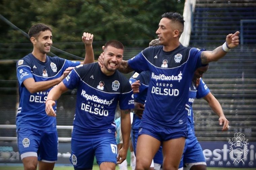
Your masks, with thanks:
<instances>
[{"instance_id":1,"label":"blue jersey of the leftmost player with raised fist","mask_svg":"<svg viewBox=\"0 0 256 170\"><path fill-rule=\"evenodd\" d=\"M45 100L52 88L30 93L23 85L23 81L28 78L33 78L35 82L53 80L61 77L68 67L75 67L79 64L78 61L72 62L57 56L46 56L45 62L42 62L32 53L17 62L20 95L16 119L17 128L56 130L56 118L47 116L45 113Z\"/></svg>"}]
</instances>

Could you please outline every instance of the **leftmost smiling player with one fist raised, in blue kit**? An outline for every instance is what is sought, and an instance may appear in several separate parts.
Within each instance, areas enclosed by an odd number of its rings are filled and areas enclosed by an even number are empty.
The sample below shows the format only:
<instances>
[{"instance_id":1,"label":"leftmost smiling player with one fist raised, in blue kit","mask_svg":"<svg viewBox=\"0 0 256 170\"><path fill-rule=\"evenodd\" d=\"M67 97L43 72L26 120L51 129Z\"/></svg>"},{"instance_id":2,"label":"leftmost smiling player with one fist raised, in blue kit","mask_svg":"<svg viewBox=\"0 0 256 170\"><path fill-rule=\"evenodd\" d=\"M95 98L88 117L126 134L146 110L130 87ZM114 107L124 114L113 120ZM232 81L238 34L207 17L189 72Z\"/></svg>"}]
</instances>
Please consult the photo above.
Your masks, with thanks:
<instances>
[{"instance_id":1,"label":"leftmost smiling player with one fist raised, in blue kit","mask_svg":"<svg viewBox=\"0 0 256 170\"><path fill-rule=\"evenodd\" d=\"M45 101L51 88L59 84L72 67L94 62L86 55L83 62L72 62L57 56L50 57L52 29L44 24L33 25L29 30L33 51L16 65L20 103L17 112L18 147L25 170L51 170L57 161L58 134L56 118L45 113ZM93 35L84 33L82 40L92 44ZM90 49L87 54L92 56ZM46 76L47 75L47 76Z\"/></svg>"}]
</instances>

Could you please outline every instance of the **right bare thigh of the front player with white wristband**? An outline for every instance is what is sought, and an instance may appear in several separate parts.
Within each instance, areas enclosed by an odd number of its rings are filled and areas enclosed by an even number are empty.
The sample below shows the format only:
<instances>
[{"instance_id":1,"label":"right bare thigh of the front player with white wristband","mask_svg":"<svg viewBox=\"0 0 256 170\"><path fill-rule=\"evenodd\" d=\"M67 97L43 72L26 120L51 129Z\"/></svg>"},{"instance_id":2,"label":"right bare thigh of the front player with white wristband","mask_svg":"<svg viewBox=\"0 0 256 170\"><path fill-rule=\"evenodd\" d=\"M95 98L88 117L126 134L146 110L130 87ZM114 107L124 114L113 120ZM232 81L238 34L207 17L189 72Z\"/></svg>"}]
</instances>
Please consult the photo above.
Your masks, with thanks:
<instances>
[{"instance_id":1,"label":"right bare thigh of the front player with white wristband","mask_svg":"<svg viewBox=\"0 0 256 170\"><path fill-rule=\"evenodd\" d=\"M163 142L163 169L178 169L184 145L185 137L170 139Z\"/></svg>"}]
</instances>

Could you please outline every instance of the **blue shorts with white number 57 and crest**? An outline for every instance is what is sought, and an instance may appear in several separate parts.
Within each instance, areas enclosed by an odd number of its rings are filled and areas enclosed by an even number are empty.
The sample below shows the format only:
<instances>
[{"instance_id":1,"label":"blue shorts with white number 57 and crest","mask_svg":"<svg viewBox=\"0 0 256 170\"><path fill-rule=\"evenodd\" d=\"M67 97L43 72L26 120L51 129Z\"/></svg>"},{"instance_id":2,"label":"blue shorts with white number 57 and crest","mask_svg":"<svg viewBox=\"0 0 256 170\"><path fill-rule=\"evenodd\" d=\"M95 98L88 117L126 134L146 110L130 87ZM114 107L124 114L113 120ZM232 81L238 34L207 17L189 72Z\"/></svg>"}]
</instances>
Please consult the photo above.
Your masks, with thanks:
<instances>
[{"instance_id":1,"label":"blue shorts with white number 57 and crest","mask_svg":"<svg viewBox=\"0 0 256 170\"><path fill-rule=\"evenodd\" d=\"M74 131L73 131L74 132ZM117 164L116 138L109 136L88 137L72 133L70 162L74 169L92 169L94 157L98 165L102 162Z\"/></svg>"}]
</instances>

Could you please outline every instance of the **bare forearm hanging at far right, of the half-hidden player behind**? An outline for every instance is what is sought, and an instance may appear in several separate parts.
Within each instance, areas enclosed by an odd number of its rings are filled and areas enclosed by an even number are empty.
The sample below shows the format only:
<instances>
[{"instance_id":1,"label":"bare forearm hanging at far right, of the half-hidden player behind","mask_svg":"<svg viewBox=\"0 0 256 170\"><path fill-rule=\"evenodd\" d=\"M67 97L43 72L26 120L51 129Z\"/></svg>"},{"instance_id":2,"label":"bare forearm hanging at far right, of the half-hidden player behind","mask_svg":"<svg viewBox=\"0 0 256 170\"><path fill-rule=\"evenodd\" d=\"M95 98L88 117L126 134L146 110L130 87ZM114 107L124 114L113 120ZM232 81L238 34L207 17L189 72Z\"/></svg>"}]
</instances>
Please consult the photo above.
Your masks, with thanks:
<instances>
[{"instance_id":1,"label":"bare forearm hanging at far right, of the half-hidden player behind","mask_svg":"<svg viewBox=\"0 0 256 170\"><path fill-rule=\"evenodd\" d=\"M219 101L214 97L214 95L211 92L208 93L206 96L204 96L203 99L208 102L212 110L219 116L220 126L223 124L222 131L227 131L229 122L223 113L223 110Z\"/></svg>"}]
</instances>

